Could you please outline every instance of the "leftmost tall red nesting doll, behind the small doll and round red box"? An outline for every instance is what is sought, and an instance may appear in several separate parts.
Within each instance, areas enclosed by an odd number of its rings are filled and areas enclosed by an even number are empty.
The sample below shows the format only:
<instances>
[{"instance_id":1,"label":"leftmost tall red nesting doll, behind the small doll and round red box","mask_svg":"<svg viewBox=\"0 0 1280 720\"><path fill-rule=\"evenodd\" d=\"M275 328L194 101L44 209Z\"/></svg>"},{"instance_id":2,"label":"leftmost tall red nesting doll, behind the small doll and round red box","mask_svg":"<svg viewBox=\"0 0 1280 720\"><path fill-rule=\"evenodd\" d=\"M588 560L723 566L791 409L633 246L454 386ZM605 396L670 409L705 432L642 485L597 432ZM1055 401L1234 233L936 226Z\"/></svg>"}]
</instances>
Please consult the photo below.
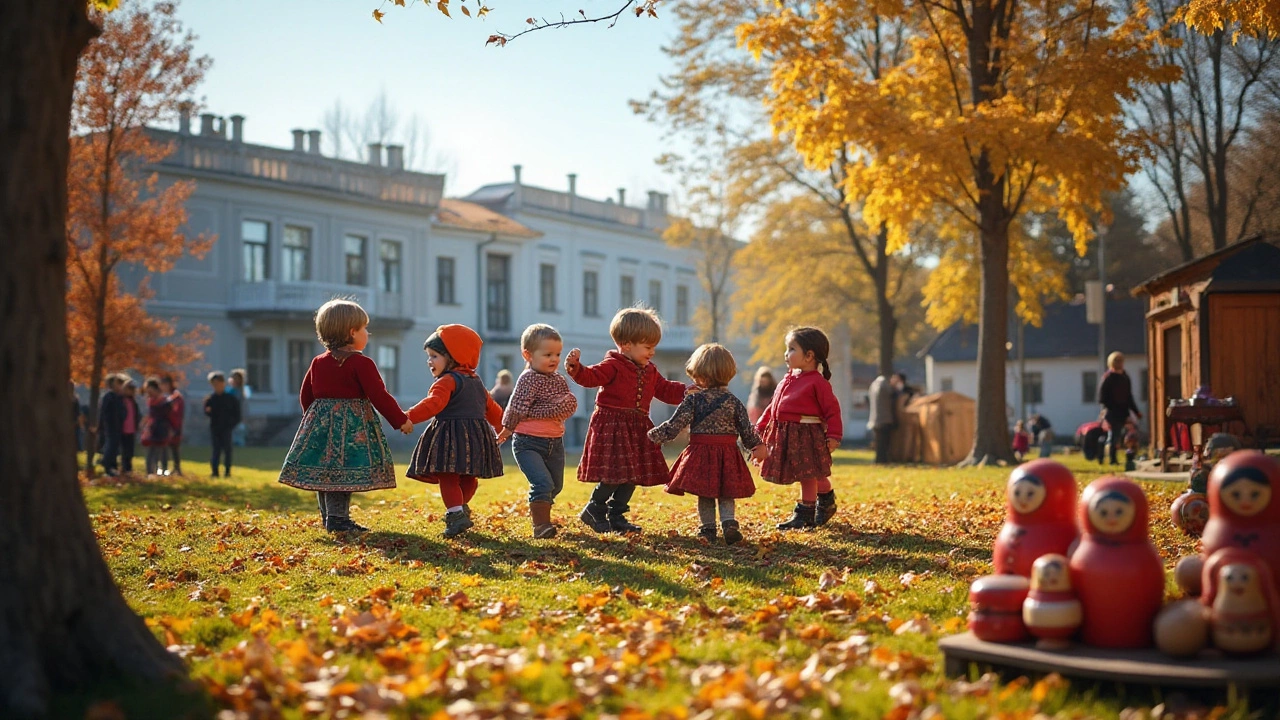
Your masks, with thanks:
<instances>
[{"instance_id":1,"label":"leftmost tall red nesting doll, behind the small doll and round red box","mask_svg":"<svg viewBox=\"0 0 1280 720\"><path fill-rule=\"evenodd\" d=\"M1075 478L1061 462L1033 460L1009 475L1005 527L996 536L996 574L1029 578L1042 555L1066 555L1075 524Z\"/></svg>"}]
</instances>

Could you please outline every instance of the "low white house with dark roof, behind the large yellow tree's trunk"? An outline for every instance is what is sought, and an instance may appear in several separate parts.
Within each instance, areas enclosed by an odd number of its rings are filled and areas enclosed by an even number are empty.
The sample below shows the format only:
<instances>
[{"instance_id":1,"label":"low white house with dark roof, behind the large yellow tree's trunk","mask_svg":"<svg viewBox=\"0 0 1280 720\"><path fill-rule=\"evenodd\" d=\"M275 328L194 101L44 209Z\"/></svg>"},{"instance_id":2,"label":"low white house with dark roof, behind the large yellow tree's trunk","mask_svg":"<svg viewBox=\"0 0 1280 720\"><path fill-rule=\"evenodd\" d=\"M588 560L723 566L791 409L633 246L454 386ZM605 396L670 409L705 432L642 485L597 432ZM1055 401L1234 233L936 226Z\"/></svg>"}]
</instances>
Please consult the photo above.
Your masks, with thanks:
<instances>
[{"instance_id":1,"label":"low white house with dark roof, behind the large yellow tree's trunk","mask_svg":"<svg viewBox=\"0 0 1280 720\"><path fill-rule=\"evenodd\" d=\"M1107 300L1107 352L1125 354L1125 370L1133 393L1147 413L1146 302L1133 299ZM1018 329L1010 328L1005 364L1006 414L1010 425L1025 414L1048 418L1059 438L1070 437L1080 423L1098 416L1098 325L1089 324L1084 304L1051 305L1041 327L1027 325L1025 374L1019 377ZM955 324L942 331L919 354L924 357L928 392L955 391L978 396L978 328Z\"/></svg>"}]
</instances>

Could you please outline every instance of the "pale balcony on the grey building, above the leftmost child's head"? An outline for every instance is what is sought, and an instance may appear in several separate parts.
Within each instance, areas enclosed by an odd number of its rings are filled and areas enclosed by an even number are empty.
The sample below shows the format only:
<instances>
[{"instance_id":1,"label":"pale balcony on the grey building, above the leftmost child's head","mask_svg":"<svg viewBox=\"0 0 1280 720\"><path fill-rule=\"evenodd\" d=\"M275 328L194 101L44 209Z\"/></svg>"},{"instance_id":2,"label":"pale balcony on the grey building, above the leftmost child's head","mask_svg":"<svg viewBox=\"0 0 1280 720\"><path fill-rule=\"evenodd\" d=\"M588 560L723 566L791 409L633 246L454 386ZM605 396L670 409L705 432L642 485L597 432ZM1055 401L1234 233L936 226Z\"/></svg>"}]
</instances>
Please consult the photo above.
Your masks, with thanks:
<instances>
[{"instance_id":1,"label":"pale balcony on the grey building, above the leftmost child's head","mask_svg":"<svg viewBox=\"0 0 1280 720\"><path fill-rule=\"evenodd\" d=\"M317 282L237 283L227 299L228 315L259 320L310 320L325 302L344 297L355 300L381 327L406 329L413 324L408 302L398 292Z\"/></svg>"}]
</instances>

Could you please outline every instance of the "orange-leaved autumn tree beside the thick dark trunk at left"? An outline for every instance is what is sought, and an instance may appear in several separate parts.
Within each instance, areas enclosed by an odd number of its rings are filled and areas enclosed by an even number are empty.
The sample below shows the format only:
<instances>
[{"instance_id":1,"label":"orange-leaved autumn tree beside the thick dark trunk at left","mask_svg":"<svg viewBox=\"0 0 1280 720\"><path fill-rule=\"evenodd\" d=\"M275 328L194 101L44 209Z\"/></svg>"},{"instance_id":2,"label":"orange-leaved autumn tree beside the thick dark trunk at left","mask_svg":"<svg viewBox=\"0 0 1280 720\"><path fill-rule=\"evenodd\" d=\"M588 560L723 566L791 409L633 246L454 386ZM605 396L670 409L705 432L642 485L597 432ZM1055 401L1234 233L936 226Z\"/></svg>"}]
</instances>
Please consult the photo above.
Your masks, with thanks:
<instances>
[{"instance_id":1,"label":"orange-leaved autumn tree beside the thick dark trunk at left","mask_svg":"<svg viewBox=\"0 0 1280 720\"><path fill-rule=\"evenodd\" d=\"M196 58L175 6L131 4L104 17L101 36L81 55L72 102L67 213L67 332L72 379L88 386L97 418L106 368L160 372L201 357L205 328L174 342L169 320L147 314L147 279L127 287L120 270L163 273L183 255L204 256L209 237L188 238L193 182L160 187L146 165L172 151L147 126L178 115L209 68ZM96 447L90 427L86 447ZM93 452L86 454L93 471Z\"/></svg>"}]
</instances>

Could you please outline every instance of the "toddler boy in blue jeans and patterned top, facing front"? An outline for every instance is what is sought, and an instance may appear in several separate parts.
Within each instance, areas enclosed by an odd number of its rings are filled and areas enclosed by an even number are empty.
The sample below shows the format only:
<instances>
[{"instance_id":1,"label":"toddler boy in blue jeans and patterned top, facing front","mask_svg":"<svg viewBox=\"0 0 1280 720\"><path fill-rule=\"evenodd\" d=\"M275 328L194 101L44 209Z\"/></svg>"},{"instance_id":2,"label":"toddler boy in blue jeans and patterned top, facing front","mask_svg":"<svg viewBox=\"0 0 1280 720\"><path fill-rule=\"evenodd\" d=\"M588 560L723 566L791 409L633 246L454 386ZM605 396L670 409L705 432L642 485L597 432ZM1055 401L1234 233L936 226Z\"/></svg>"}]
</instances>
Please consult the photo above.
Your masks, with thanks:
<instances>
[{"instance_id":1,"label":"toddler boy in blue jeans and patterned top, facing front","mask_svg":"<svg viewBox=\"0 0 1280 720\"><path fill-rule=\"evenodd\" d=\"M498 442L512 437L516 465L529 478L529 518L535 538L556 537L552 505L564 489L564 420L577 411L577 398L568 389L559 368L564 343L550 325L529 325L520 336L520 373L507 411L502 415Z\"/></svg>"}]
</instances>

